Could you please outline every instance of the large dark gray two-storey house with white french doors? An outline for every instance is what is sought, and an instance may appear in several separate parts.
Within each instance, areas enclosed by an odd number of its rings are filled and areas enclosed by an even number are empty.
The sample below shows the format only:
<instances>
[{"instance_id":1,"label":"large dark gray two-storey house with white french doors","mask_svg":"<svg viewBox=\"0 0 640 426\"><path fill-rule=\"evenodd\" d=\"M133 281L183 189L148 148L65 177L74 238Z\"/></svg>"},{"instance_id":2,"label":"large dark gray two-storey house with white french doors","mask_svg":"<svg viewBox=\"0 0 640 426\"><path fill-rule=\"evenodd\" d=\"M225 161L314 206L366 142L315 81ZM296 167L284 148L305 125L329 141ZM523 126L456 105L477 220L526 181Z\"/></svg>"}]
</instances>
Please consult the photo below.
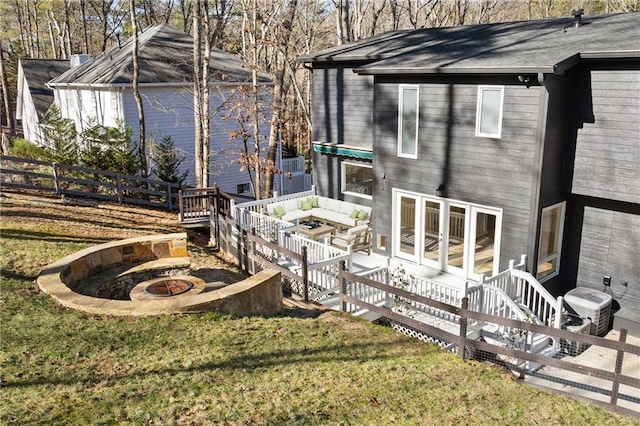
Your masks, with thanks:
<instances>
[{"instance_id":1,"label":"large dark gray two-storey house with white french doors","mask_svg":"<svg viewBox=\"0 0 640 426\"><path fill-rule=\"evenodd\" d=\"M640 334L640 13L395 31L312 53L314 183L374 251L465 280L522 254ZM619 309L618 309L619 308Z\"/></svg>"}]
</instances>

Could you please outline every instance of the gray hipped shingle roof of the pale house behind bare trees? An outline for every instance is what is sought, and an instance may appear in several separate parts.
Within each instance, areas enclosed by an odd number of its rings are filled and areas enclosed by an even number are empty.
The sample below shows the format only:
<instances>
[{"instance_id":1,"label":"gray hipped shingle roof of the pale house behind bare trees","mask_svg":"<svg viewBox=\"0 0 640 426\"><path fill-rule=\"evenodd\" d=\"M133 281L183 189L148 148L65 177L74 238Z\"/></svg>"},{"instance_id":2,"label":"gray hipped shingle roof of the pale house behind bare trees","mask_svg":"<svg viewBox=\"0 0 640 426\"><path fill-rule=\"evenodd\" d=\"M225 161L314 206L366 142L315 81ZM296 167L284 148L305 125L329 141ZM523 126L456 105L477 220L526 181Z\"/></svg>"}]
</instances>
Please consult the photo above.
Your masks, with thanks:
<instances>
[{"instance_id":1,"label":"gray hipped shingle roof of the pale house behind bare trees","mask_svg":"<svg viewBox=\"0 0 640 426\"><path fill-rule=\"evenodd\" d=\"M133 39L115 46L75 67L49 84L56 85L129 85L133 78ZM138 37L140 84L185 83L193 81L193 38L168 24L157 25ZM239 58L213 49L210 62L211 82L248 82L251 69ZM260 82L271 79L259 74Z\"/></svg>"}]
</instances>

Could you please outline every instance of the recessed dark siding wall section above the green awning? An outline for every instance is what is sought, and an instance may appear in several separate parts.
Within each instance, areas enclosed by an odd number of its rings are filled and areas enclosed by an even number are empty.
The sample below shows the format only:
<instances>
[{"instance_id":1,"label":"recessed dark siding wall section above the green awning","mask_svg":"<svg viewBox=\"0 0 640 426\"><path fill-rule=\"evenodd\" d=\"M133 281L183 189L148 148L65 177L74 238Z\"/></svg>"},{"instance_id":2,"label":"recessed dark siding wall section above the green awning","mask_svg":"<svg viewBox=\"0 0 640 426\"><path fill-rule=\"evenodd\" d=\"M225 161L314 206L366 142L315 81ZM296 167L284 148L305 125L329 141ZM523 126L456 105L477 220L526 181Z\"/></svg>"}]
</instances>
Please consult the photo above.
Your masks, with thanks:
<instances>
[{"instance_id":1,"label":"recessed dark siding wall section above the green awning","mask_svg":"<svg viewBox=\"0 0 640 426\"><path fill-rule=\"evenodd\" d=\"M313 140L373 146L373 77L352 68L313 69Z\"/></svg>"}]
</instances>

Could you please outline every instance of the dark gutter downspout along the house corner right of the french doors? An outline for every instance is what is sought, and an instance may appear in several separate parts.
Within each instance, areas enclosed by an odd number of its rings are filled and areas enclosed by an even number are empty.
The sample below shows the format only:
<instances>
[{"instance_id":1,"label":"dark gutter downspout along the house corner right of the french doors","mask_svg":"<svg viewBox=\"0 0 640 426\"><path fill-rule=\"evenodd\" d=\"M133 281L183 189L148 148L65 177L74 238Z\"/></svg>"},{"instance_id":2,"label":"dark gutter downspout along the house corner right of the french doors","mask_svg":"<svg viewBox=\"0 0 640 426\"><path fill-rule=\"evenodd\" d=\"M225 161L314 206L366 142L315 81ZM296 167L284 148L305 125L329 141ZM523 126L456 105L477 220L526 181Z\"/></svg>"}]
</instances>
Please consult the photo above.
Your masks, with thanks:
<instances>
[{"instance_id":1,"label":"dark gutter downspout along the house corner right of the french doors","mask_svg":"<svg viewBox=\"0 0 640 426\"><path fill-rule=\"evenodd\" d=\"M531 220L527 235L527 268L531 275L536 276L538 262L538 227L540 222L540 196L542 188L542 167L544 164L544 143L547 136L547 119L549 114L549 89L544 73L538 73L538 83L540 83L540 101L538 103L538 123L536 126L536 146L533 158L533 179L531 185L530 211Z\"/></svg>"}]
</instances>

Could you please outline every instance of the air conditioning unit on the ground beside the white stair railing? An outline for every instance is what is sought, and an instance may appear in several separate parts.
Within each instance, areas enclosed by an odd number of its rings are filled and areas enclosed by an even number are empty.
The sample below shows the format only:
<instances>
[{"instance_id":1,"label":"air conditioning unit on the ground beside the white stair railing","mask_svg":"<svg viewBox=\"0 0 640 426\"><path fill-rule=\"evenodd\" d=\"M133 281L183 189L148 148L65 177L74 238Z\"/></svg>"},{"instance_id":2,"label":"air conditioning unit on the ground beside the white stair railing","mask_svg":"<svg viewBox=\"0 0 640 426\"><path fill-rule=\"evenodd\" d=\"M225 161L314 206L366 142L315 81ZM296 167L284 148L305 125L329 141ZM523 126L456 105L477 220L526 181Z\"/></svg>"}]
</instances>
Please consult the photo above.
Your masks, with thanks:
<instances>
[{"instance_id":1,"label":"air conditioning unit on the ground beside the white stair railing","mask_svg":"<svg viewBox=\"0 0 640 426\"><path fill-rule=\"evenodd\" d=\"M589 334L604 336L611 318L610 295L586 287L578 287L564 296L564 301L580 318L591 320Z\"/></svg>"}]
</instances>

